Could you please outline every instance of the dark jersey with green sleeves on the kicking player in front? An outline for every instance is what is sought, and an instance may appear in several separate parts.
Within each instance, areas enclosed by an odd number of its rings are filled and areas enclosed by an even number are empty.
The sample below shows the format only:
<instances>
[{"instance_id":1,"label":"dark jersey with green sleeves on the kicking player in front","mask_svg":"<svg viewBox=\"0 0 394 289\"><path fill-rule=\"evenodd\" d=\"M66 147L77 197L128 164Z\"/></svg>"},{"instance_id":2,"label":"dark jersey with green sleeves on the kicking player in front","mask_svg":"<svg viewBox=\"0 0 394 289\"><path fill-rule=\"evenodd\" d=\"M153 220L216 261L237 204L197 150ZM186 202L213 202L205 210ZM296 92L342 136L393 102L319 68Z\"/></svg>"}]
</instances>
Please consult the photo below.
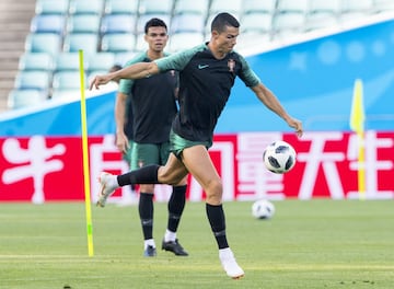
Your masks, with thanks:
<instances>
[{"instance_id":1,"label":"dark jersey with green sleeves on the kicking player in front","mask_svg":"<svg viewBox=\"0 0 394 289\"><path fill-rule=\"evenodd\" d=\"M240 54L231 51L223 59L217 59L207 44L154 61L161 72L179 71L179 112L172 128L187 140L212 139L236 77L246 86L259 83L258 77Z\"/></svg>"}]
</instances>

